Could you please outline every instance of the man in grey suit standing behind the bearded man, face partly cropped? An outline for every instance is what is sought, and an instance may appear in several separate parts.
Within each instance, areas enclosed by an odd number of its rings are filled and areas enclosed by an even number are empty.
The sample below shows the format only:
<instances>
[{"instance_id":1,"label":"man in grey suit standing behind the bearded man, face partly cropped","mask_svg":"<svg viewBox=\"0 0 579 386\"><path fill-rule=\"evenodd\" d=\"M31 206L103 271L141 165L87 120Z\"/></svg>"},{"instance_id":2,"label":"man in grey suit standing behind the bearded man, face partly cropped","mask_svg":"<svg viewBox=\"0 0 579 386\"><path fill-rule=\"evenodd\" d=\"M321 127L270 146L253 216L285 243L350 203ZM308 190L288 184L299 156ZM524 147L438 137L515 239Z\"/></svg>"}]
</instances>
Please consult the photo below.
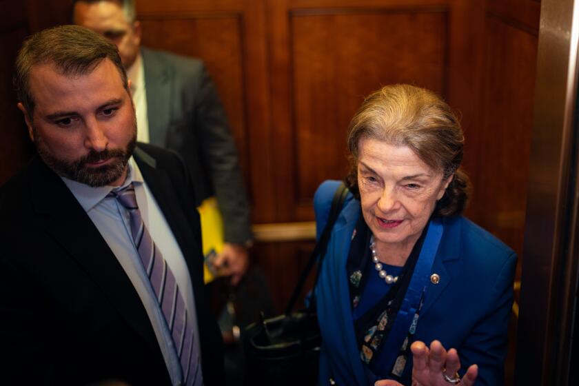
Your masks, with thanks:
<instances>
[{"instance_id":1,"label":"man in grey suit standing behind the bearded man, face partly cropped","mask_svg":"<svg viewBox=\"0 0 579 386\"><path fill-rule=\"evenodd\" d=\"M75 24L118 48L132 81L138 140L178 152L192 173L196 205L216 196L225 244L213 261L238 283L247 269L250 210L225 110L203 62L141 47L132 0L74 1Z\"/></svg>"}]
</instances>

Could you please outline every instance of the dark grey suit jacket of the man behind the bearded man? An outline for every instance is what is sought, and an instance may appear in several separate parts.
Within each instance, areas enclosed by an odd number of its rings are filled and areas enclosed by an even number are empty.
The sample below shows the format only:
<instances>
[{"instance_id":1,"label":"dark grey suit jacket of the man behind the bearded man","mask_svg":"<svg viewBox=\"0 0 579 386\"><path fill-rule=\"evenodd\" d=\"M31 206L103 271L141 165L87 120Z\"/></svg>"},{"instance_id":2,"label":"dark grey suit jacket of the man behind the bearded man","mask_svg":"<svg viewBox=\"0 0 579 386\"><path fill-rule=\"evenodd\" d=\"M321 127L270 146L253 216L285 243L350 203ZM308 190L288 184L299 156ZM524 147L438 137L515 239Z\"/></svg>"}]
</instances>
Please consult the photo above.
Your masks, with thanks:
<instances>
[{"instance_id":1,"label":"dark grey suit jacket of the man behind the bearded man","mask_svg":"<svg viewBox=\"0 0 579 386\"><path fill-rule=\"evenodd\" d=\"M179 153L194 181L196 203L215 195L225 241L250 240L250 210L237 150L219 94L202 61L141 48L150 143Z\"/></svg>"}]
</instances>

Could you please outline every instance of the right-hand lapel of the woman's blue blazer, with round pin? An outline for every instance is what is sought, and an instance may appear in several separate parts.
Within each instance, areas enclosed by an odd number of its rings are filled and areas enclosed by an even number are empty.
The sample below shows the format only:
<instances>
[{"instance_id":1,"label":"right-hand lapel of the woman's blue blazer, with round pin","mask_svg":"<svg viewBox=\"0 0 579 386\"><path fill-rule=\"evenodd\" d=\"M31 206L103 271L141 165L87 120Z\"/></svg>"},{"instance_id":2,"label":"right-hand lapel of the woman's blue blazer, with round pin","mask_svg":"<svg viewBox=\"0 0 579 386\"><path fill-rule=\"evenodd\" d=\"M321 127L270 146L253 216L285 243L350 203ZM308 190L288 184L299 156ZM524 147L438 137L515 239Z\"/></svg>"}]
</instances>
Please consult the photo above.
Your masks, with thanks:
<instances>
[{"instance_id":1,"label":"right-hand lapel of the woman's blue blazer, with round pin","mask_svg":"<svg viewBox=\"0 0 579 386\"><path fill-rule=\"evenodd\" d=\"M440 280L438 283L431 281L427 287L425 294L425 303L423 305L421 314L424 314L436 302L436 299L443 294L446 287L452 281L453 265L456 265L460 260L460 229L456 226L449 225L447 219L443 220L445 227L443 238L438 246L436 258L432 265L431 275L437 274Z\"/></svg>"}]
</instances>

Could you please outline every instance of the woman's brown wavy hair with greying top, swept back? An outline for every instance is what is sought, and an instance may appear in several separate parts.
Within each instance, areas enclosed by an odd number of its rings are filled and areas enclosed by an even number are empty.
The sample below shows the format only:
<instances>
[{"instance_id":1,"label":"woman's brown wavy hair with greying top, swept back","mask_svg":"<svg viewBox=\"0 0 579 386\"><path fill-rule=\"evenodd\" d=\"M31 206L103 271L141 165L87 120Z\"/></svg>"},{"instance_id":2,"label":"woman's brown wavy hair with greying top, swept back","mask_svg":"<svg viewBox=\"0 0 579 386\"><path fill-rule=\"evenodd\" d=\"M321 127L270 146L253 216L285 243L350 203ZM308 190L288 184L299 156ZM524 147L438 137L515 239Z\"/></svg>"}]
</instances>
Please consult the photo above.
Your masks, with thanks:
<instances>
[{"instance_id":1,"label":"woman's brown wavy hair with greying top, swept back","mask_svg":"<svg viewBox=\"0 0 579 386\"><path fill-rule=\"evenodd\" d=\"M358 145L362 138L408 146L429 167L440 170L443 179L452 176L443 198L436 203L434 216L463 212L470 190L469 177L460 167L465 136L456 114L434 92L407 84L387 85L362 103L349 124L350 172L345 179L358 199Z\"/></svg>"}]
</instances>

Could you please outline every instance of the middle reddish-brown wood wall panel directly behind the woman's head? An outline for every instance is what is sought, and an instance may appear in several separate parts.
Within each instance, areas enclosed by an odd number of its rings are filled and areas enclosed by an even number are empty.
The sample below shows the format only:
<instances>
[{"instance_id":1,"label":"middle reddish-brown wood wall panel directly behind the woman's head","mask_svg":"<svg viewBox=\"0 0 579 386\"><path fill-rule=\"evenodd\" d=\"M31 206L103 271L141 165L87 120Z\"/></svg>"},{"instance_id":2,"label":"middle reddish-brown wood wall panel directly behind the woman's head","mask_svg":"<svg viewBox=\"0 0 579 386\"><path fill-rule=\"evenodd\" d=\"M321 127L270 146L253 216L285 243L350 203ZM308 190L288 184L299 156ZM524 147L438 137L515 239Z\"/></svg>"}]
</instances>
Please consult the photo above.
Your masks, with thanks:
<instances>
[{"instance_id":1,"label":"middle reddish-brown wood wall panel directly behind the woman's head","mask_svg":"<svg viewBox=\"0 0 579 386\"><path fill-rule=\"evenodd\" d=\"M270 9L276 217L311 220L316 187L347 171L347 125L364 96L403 82L449 97L467 65L454 52L469 50L449 31L469 9L455 1L271 1ZM477 65L476 52L468 58Z\"/></svg>"}]
</instances>

